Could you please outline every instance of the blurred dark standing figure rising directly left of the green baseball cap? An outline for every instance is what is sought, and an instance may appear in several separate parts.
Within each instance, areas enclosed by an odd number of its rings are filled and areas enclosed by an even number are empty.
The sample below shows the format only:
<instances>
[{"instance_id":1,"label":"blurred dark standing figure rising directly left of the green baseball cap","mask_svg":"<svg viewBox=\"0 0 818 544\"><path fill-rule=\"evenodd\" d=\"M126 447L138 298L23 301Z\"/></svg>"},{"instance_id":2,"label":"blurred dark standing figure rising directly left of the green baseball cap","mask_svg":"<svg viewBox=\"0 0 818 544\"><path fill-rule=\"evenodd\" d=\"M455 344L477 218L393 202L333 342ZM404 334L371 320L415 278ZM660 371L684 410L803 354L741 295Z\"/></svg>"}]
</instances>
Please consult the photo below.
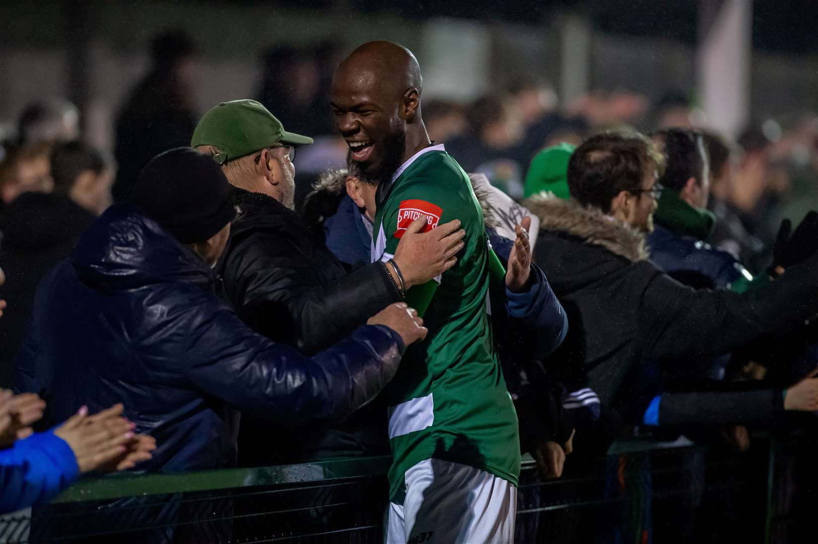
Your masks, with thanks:
<instances>
[{"instance_id":1,"label":"blurred dark standing figure rising directly left of the green baseball cap","mask_svg":"<svg viewBox=\"0 0 818 544\"><path fill-rule=\"evenodd\" d=\"M155 155L188 146L196 128L196 44L179 30L151 41L151 70L131 91L116 121L119 173L115 200L129 200L137 174Z\"/></svg>"}]
</instances>

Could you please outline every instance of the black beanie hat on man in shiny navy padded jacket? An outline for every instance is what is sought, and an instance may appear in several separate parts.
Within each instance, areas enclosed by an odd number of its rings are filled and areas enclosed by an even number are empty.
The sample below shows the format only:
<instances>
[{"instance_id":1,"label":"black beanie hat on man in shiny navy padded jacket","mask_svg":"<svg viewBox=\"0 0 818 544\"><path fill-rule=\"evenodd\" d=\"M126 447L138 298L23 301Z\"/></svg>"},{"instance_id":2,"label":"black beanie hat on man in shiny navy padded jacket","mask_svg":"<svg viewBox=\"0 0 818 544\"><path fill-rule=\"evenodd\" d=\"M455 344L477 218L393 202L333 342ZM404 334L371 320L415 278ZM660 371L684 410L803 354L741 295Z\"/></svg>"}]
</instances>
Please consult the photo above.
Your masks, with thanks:
<instances>
[{"instance_id":1,"label":"black beanie hat on man in shiny navy padded jacket","mask_svg":"<svg viewBox=\"0 0 818 544\"><path fill-rule=\"evenodd\" d=\"M182 244L207 241L236 217L222 169L190 147L156 155L139 173L133 203Z\"/></svg>"}]
</instances>

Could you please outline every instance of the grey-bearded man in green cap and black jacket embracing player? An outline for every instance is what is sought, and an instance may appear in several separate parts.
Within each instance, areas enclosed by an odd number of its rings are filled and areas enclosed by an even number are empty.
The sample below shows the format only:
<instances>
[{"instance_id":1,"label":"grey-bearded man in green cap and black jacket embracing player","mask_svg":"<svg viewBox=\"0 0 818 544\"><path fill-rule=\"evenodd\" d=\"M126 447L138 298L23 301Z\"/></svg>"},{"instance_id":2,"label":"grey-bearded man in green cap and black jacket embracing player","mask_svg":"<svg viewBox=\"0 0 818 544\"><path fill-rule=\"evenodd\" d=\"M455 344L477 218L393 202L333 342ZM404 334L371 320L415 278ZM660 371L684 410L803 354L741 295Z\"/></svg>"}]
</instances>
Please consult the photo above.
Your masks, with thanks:
<instances>
[{"instance_id":1,"label":"grey-bearded man in green cap and black jacket embracing player","mask_svg":"<svg viewBox=\"0 0 818 544\"><path fill-rule=\"evenodd\" d=\"M312 138L285 131L252 100L213 107L191 141L222 165L240 209L216 264L222 295L251 328L304 354L335 344L390 303L402 301L412 285L451 268L464 236L458 220L420 234L426 222L419 219L403 236L394 263L349 272L293 211L295 146L310 143ZM358 412L334 429L292 429L287 437L272 436L267 424L244 416L240 463L379 453L385 442L371 433L378 427L368 419L366 411Z\"/></svg>"}]
</instances>

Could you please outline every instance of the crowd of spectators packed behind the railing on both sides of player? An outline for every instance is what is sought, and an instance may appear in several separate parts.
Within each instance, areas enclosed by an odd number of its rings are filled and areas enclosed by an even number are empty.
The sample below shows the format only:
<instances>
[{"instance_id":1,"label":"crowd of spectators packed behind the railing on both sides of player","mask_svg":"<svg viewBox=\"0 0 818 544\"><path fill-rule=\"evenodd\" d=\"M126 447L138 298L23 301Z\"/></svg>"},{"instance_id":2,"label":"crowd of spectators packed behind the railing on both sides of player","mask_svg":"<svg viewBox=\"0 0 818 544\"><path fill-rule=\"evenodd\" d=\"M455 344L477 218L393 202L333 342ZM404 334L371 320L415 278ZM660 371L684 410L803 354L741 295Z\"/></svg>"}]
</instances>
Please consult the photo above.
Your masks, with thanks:
<instances>
[{"instance_id":1,"label":"crowd of spectators packed behind the railing on both sides of player","mask_svg":"<svg viewBox=\"0 0 818 544\"><path fill-rule=\"evenodd\" d=\"M195 54L155 38L113 154L64 100L2 143L2 511L91 471L389 453L379 393L443 326L407 294L465 266L474 232L412 217L371 255L384 200L335 133L335 48L272 49L257 100L205 115ZM501 266L491 349L543 478L625 433L743 451L814 428L816 119L719 134L683 93L560 103L536 79L422 112Z\"/></svg>"}]
</instances>

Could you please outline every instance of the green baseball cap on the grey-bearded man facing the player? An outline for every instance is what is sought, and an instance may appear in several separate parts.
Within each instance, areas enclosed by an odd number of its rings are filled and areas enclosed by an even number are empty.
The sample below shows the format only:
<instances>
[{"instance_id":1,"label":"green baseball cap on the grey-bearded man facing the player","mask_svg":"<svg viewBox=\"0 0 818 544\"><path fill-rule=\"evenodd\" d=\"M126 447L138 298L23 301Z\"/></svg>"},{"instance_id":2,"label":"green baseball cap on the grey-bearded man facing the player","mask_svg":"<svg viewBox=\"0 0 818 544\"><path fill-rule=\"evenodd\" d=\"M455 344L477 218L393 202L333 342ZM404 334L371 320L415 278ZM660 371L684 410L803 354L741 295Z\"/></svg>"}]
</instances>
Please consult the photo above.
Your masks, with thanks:
<instances>
[{"instance_id":1,"label":"green baseball cap on the grey-bearded man facing the player","mask_svg":"<svg viewBox=\"0 0 818 544\"><path fill-rule=\"evenodd\" d=\"M210 109L193 131L191 147L216 146L218 164L261 151L276 143L301 146L312 138L288 133L267 108L254 100L231 100Z\"/></svg>"}]
</instances>

